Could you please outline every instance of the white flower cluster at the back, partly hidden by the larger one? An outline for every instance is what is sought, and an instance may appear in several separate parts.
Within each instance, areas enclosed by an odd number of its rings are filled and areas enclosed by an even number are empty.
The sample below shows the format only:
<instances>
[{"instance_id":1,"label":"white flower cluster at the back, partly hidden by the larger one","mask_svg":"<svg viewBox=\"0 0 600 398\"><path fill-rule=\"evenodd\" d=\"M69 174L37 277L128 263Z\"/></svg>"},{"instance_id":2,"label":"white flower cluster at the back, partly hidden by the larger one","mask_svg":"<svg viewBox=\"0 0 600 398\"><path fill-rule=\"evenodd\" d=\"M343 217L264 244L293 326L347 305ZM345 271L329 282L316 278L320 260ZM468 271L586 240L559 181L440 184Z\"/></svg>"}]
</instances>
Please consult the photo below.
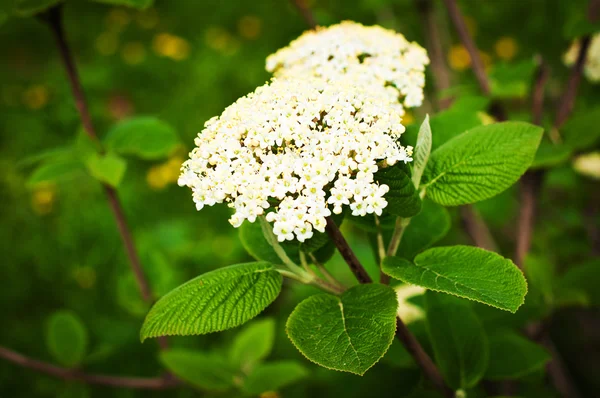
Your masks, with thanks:
<instances>
[{"instance_id":1,"label":"white flower cluster at the back, partly hidden by the larger one","mask_svg":"<svg viewBox=\"0 0 600 398\"><path fill-rule=\"evenodd\" d=\"M310 75L325 80L351 74L365 84L388 86L405 107L420 106L427 52L403 35L380 26L345 21L305 32L267 58L276 77Z\"/></svg>"}]
</instances>

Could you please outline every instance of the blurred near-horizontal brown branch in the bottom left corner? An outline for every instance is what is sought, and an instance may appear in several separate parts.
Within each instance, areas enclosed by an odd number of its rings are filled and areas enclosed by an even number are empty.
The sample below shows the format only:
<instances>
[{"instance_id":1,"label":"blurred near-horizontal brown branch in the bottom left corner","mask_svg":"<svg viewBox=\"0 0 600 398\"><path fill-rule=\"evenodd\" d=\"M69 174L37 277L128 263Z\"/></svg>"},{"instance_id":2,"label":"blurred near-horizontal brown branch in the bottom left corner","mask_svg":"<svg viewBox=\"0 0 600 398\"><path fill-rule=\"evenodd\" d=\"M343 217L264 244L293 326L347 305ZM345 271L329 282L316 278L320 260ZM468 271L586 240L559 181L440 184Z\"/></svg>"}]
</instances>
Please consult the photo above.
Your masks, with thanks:
<instances>
[{"instance_id":1,"label":"blurred near-horizontal brown branch in the bottom left corner","mask_svg":"<svg viewBox=\"0 0 600 398\"><path fill-rule=\"evenodd\" d=\"M98 384L109 387L136 388L144 390L165 390L178 387L181 382L172 376L142 378L142 377L119 377L100 374L88 374L76 369L62 368L47 362L26 357L18 352L0 346L0 358L12 362L27 369L63 379L77 380L90 384Z\"/></svg>"}]
</instances>

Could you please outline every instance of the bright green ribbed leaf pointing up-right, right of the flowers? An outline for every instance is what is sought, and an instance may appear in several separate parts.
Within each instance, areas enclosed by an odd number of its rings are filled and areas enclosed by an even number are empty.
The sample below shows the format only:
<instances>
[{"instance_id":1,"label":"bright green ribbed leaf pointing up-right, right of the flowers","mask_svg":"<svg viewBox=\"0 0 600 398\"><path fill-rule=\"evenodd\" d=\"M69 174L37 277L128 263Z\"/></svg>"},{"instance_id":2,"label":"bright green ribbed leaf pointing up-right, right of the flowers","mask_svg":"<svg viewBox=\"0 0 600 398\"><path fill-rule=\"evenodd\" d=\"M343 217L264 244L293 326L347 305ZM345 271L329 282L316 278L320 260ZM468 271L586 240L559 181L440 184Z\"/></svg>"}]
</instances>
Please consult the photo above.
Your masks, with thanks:
<instances>
[{"instance_id":1,"label":"bright green ribbed leaf pointing up-right, right of the flowers","mask_svg":"<svg viewBox=\"0 0 600 398\"><path fill-rule=\"evenodd\" d=\"M529 168L542 132L532 124L504 122L453 138L431 154L424 174L427 195L457 206L499 194Z\"/></svg>"}]
</instances>

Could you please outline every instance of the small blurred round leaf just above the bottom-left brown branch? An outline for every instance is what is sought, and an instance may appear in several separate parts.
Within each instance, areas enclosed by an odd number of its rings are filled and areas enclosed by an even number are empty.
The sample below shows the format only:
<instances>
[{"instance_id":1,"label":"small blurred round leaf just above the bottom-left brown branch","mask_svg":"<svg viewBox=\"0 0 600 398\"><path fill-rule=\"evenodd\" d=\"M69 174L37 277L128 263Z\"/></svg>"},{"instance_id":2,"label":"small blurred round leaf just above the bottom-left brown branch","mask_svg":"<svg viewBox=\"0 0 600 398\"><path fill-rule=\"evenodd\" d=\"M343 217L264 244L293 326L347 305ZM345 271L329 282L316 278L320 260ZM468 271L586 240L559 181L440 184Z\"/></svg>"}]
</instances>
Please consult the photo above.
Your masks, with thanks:
<instances>
[{"instance_id":1,"label":"small blurred round leaf just above the bottom-left brown branch","mask_svg":"<svg viewBox=\"0 0 600 398\"><path fill-rule=\"evenodd\" d=\"M48 321L46 345L60 364L75 367L81 364L87 352L87 329L75 313L57 311Z\"/></svg>"}]
</instances>

